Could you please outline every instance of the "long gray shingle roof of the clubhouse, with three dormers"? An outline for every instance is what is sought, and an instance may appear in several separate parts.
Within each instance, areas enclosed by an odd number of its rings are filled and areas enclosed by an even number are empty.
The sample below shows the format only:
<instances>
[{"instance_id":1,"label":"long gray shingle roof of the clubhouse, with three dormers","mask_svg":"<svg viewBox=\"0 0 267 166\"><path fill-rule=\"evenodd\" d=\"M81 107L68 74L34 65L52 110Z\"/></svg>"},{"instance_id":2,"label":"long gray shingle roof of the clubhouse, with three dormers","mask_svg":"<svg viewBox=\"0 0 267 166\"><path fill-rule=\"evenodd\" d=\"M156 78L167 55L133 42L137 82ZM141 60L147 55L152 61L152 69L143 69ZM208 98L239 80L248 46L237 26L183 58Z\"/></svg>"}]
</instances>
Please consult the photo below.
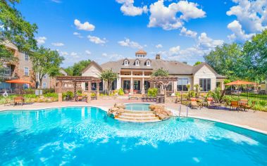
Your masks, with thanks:
<instances>
[{"instance_id":1,"label":"long gray shingle roof of the clubhouse, with three dormers","mask_svg":"<svg viewBox=\"0 0 267 166\"><path fill-rule=\"evenodd\" d=\"M120 69L145 69L145 70L157 70L159 68L163 68L164 70L168 70L170 75L194 75L199 69L201 69L204 65L206 65L214 74L219 78L225 78L223 75L218 75L216 71L211 68L207 63L201 63L196 66L187 65L185 63L180 63L175 60L151 60L151 65L145 65L147 58L142 59L139 58L140 61L139 66L135 65L135 60L137 59L127 59L129 60L129 65L123 65L125 59L117 60L117 61L109 61L107 63L103 63L101 68L103 70L112 69L113 72L120 72Z\"/></svg>"}]
</instances>

